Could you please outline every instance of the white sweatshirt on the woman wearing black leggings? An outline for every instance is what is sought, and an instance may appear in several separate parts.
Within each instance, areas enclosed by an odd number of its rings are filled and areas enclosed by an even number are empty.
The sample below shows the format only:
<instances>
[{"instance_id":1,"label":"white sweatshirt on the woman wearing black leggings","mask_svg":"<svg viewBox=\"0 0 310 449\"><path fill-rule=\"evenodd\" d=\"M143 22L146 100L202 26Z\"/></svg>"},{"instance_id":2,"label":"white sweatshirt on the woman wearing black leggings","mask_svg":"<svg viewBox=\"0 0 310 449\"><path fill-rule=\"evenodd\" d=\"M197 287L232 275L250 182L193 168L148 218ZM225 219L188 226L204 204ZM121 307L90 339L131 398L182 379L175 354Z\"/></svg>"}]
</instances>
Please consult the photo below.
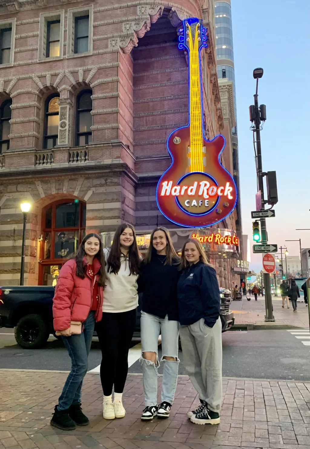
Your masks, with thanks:
<instances>
[{"instance_id":1,"label":"white sweatshirt on the woman wearing black leggings","mask_svg":"<svg viewBox=\"0 0 310 449\"><path fill-rule=\"evenodd\" d=\"M104 248L105 261L109 248ZM121 255L121 268L118 274L107 273L106 287L103 291L102 311L109 313L128 312L138 307L138 275L130 274L129 261Z\"/></svg>"}]
</instances>

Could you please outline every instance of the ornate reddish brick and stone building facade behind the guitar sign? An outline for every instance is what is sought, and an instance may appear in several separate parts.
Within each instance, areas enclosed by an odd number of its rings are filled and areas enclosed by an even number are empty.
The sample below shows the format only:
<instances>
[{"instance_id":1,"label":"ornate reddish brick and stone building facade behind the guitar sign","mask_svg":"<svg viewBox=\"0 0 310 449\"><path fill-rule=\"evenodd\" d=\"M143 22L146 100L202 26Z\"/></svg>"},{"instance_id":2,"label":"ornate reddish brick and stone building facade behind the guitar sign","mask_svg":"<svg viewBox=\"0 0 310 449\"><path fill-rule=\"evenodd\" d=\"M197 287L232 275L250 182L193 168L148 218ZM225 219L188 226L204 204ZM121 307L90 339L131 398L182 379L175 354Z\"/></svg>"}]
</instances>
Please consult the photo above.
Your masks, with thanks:
<instances>
[{"instance_id":1,"label":"ornate reddish brick and stone building facade behind the guitar sign","mask_svg":"<svg viewBox=\"0 0 310 449\"><path fill-rule=\"evenodd\" d=\"M0 284L18 284L23 200L32 204L28 285L61 265L53 249L61 227L74 248L84 232L122 221L172 227L155 189L170 165L167 137L188 123L183 18L203 18L208 29L205 130L212 138L224 129L213 8L211 0L1 2ZM234 220L222 227L235 229Z\"/></svg>"}]
</instances>

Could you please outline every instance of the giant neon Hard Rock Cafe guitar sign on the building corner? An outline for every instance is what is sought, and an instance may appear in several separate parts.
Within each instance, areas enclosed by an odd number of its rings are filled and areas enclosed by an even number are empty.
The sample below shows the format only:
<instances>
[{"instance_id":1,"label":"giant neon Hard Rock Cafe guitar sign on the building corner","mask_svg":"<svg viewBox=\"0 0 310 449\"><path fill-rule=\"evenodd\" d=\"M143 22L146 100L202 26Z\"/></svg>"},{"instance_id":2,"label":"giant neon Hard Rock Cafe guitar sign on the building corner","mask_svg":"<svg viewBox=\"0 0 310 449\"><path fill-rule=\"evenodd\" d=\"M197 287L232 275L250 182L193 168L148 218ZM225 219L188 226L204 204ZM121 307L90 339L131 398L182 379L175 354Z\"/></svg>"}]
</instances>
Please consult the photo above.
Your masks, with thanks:
<instances>
[{"instance_id":1,"label":"giant neon Hard Rock Cafe guitar sign on the building corner","mask_svg":"<svg viewBox=\"0 0 310 449\"><path fill-rule=\"evenodd\" d=\"M236 184L220 163L224 136L204 136L200 51L207 47L206 29L197 18L183 20L179 49L188 51L189 123L168 137L172 163L157 184L159 210L177 225L211 226L226 218L236 206Z\"/></svg>"}]
</instances>

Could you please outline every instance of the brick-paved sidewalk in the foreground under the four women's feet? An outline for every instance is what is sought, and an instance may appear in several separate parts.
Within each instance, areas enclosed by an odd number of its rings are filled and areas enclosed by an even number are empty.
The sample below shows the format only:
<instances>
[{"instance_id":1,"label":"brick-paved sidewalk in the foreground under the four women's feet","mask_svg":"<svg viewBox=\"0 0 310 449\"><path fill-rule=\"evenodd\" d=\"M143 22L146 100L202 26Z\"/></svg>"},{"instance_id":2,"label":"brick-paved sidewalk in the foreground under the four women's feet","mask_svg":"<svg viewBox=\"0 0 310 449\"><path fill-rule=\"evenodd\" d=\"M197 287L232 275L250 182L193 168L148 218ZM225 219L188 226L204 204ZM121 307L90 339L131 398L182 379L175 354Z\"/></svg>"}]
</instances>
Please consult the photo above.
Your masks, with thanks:
<instances>
[{"instance_id":1,"label":"brick-paved sidewalk in the foreground under the four women's feet","mask_svg":"<svg viewBox=\"0 0 310 449\"><path fill-rule=\"evenodd\" d=\"M198 403L186 376L178 379L170 418L143 423L140 374L128 376L127 415L113 421L102 418L99 375L87 374L83 411L90 424L64 432L49 421L66 376L0 370L0 449L310 448L310 383L223 379L221 424L199 426L186 416Z\"/></svg>"}]
</instances>

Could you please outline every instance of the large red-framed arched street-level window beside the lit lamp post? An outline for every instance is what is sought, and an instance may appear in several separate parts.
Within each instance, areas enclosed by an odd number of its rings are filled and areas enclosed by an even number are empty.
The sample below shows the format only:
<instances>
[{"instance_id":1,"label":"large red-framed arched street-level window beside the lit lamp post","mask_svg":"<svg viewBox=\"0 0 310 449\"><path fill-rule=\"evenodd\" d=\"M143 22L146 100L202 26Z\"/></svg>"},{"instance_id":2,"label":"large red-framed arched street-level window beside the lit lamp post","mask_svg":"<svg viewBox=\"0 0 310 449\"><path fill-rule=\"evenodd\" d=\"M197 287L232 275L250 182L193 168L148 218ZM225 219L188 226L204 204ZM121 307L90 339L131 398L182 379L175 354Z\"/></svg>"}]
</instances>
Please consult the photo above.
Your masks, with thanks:
<instances>
[{"instance_id":1,"label":"large red-framed arched street-level window beside the lit lamp post","mask_svg":"<svg viewBox=\"0 0 310 449\"><path fill-rule=\"evenodd\" d=\"M78 199L56 201L44 208L39 285L56 284L62 265L85 236L85 225L86 204Z\"/></svg>"}]
</instances>

